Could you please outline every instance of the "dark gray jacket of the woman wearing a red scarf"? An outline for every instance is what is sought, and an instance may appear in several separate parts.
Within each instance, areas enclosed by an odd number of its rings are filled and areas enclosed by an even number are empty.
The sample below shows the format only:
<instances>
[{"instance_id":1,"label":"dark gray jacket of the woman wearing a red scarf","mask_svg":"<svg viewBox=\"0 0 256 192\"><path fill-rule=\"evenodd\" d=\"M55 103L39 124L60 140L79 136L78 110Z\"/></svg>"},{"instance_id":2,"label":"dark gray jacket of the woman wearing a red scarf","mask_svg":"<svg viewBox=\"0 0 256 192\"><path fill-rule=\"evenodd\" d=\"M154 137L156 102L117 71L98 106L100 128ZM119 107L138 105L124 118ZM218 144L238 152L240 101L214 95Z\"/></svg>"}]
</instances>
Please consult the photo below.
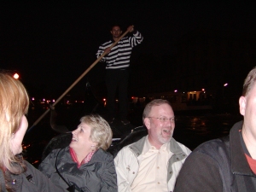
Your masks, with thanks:
<instances>
[{"instance_id":1,"label":"dark gray jacket of the woman wearing a red scarf","mask_svg":"<svg viewBox=\"0 0 256 192\"><path fill-rule=\"evenodd\" d=\"M60 153L59 153L60 152ZM56 161L56 156L57 161ZM55 169L55 161L58 172ZM113 155L102 150L96 151L90 161L78 168L72 160L69 147L53 150L40 164L38 169L49 177L52 182L67 189L68 185L75 184L82 191L117 191L116 172L113 165ZM66 182L61 178L63 177Z\"/></svg>"}]
</instances>

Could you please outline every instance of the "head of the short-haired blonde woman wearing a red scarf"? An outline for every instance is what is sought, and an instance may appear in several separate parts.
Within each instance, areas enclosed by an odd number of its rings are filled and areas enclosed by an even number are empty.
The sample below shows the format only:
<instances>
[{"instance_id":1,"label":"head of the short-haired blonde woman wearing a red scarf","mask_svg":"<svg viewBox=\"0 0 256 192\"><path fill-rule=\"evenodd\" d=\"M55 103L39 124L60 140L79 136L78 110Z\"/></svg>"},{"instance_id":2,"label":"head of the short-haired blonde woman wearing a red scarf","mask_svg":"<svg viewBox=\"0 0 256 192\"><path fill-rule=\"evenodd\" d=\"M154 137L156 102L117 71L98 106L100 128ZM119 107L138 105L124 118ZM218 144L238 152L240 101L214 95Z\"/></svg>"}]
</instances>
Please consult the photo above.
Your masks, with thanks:
<instances>
[{"instance_id":1,"label":"head of the short-haired blonde woman wearing a red scarf","mask_svg":"<svg viewBox=\"0 0 256 192\"><path fill-rule=\"evenodd\" d=\"M112 130L108 122L98 114L85 115L80 119L80 124L73 131L73 139L70 147L76 152L81 152L84 148L96 150L102 148L107 150L112 143Z\"/></svg>"}]
</instances>

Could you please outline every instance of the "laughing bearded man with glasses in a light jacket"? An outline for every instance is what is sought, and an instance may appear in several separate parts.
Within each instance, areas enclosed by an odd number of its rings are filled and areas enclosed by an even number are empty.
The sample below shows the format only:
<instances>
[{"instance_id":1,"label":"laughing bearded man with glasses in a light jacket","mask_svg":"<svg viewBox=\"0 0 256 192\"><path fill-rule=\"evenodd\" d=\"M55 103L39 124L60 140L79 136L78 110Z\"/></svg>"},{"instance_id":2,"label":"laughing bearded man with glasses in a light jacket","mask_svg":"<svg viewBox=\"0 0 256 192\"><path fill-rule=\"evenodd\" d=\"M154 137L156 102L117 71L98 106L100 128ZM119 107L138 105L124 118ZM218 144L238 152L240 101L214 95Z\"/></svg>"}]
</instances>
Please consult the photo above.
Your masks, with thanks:
<instances>
[{"instance_id":1,"label":"laughing bearded man with glasses in a light jacket","mask_svg":"<svg viewBox=\"0 0 256 192\"><path fill-rule=\"evenodd\" d=\"M119 191L170 192L191 151L172 138L175 117L166 100L147 104L143 124L148 136L122 148L114 159Z\"/></svg>"}]
</instances>

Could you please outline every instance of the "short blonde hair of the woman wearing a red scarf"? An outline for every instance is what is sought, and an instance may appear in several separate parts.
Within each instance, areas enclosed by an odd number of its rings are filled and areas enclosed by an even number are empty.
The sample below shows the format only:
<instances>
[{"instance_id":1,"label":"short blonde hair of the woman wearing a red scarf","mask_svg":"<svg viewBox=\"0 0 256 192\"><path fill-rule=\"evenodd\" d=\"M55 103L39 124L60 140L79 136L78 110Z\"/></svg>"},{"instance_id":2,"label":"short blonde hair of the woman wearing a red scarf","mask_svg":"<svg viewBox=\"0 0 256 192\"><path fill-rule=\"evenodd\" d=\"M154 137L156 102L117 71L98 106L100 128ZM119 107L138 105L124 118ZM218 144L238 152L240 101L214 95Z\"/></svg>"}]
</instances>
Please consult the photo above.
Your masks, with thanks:
<instances>
[{"instance_id":1,"label":"short blonde hair of the woman wearing a red scarf","mask_svg":"<svg viewBox=\"0 0 256 192\"><path fill-rule=\"evenodd\" d=\"M90 126L90 140L98 144L98 148L107 150L112 143L112 130L108 122L98 114L82 117L80 121Z\"/></svg>"}]
</instances>

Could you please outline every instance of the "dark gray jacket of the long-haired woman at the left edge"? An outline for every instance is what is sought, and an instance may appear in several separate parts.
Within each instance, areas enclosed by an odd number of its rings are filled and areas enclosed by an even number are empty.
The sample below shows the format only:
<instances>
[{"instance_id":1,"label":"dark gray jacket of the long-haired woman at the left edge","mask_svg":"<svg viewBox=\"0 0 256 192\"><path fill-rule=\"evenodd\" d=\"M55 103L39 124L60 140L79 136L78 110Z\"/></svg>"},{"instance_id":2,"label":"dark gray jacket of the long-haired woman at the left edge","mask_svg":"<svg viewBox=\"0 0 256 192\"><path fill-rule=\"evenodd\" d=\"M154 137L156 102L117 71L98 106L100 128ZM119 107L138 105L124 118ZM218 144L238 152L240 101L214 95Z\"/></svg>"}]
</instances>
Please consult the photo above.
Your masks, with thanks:
<instances>
[{"instance_id":1,"label":"dark gray jacket of the long-haired woman at the left edge","mask_svg":"<svg viewBox=\"0 0 256 192\"><path fill-rule=\"evenodd\" d=\"M48 177L45 177L42 172L39 172L34 166L26 162L27 171L19 175L11 174L11 181L9 186L15 189L15 192L61 192L67 191L60 186L55 186ZM5 182L3 172L0 171L0 191L7 192L5 189Z\"/></svg>"}]
</instances>

